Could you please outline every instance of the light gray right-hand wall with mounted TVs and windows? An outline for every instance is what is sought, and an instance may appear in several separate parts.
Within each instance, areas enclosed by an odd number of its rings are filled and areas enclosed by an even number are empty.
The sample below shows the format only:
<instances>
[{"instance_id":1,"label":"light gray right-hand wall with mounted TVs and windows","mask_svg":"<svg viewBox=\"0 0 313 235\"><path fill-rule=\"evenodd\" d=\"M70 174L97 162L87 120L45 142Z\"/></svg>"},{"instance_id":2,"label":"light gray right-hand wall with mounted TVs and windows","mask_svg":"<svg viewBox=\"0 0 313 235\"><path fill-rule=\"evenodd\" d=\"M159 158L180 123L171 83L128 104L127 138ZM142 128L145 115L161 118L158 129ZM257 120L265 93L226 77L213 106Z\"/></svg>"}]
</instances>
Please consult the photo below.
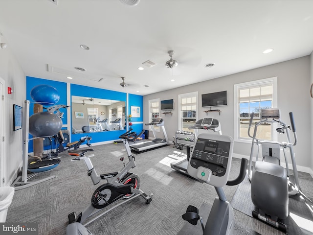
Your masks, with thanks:
<instances>
[{"instance_id":1,"label":"light gray right-hand wall with mounted TVs and windows","mask_svg":"<svg viewBox=\"0 0 313 235\"><path fill-rule=\"evenodd\" d=\"M311 68L312 68L311 62ZM310 88L310 56L301 57L298 59L269 65L266 67L257 68L254 70L244 71L217 79L196 83L180 87L177 89L160 92L156 94L145 95L143 97L144 123L148 120L148 100L160 98L174 99L175 109L173 117L170 115L161 115L165 121L165 129L170 140L173 140L175 131L178 130L178 95L198 91L198 109L199 114L197 119L206 116L203 111L207 108L201 107L201 94L220 92L227 90L228 105L218 107L221 112L210 112L208 116L217 118L222 125L222 133L234 137L234 84L243 83L263 78L277 76L278 79L278 108L281 110L282 120L289 123L289 112L293 112L295 125L298 136L298 144L294 150L296 153L296 161L299 166L298 170L310 172L313 168L311 157L311 97L309 94ZM192 78L190 78L192 79ZM313 79L311 77L311 79ZM179 80L179 79L176 79ZM313 109L312 109L313 110ZM313 132L313 130L312 130ZM157 133L160 136L160 133ZM283 139L279 141L284 141ZM234 153L249 156L251 144L235 142ZM284 161L284 160L283 160Z\"/></svg>"}]
</instances>

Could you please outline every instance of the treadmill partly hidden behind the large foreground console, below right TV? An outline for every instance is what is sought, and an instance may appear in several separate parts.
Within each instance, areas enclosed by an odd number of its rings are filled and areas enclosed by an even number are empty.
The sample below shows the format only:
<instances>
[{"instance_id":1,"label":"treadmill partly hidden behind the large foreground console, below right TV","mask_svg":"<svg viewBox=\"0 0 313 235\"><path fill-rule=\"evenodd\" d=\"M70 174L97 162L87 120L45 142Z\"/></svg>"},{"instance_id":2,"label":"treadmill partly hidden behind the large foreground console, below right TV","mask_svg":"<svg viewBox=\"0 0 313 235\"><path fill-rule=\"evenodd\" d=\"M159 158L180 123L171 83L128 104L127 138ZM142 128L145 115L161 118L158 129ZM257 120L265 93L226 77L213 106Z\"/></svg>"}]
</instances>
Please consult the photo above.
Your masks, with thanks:
<instances>
[{"instance_id":1,"label":"treadmill partly hidden behind the large foreground console, below right TV","mask_svg":"<svg viewBox=\"0 0 313 235\"><path fill-rule=\"evenodd\" d=\"M195 123L195 125L190 126L188 129L195 130L195 140L197 140L200 130L202 130L201 132L205 130L213 130L214 132L219 132L219 134L222 135L221 124L219 120L215 118L202 118L198 120ZM187 172L189 157L190 157L190 146L187 146L187 156L172 162L171 167L177 170L179 173L189 176Z\"/></svg>"}]
</instances>

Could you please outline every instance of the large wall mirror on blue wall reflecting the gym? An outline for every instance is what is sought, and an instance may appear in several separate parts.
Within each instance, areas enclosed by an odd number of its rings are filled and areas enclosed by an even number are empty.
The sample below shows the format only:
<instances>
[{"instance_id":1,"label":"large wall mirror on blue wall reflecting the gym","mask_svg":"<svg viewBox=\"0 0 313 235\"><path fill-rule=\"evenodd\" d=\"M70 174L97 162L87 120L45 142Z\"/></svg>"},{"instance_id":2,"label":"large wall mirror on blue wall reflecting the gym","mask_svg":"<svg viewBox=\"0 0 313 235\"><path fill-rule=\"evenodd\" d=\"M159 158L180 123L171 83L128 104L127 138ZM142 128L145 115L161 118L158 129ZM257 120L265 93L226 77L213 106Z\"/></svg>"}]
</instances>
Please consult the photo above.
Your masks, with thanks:
<instances>
[{"instance_id":1,"label":"large wall mirror on blue wall reflecting the gym","mask_svg":"<svg viewBox=\"0 0 313 235\"><path fill-rule=\"evenodd\" d=\"M72 134L124 130L125 101L71 96Z\"/></svg>"}]
</instances>

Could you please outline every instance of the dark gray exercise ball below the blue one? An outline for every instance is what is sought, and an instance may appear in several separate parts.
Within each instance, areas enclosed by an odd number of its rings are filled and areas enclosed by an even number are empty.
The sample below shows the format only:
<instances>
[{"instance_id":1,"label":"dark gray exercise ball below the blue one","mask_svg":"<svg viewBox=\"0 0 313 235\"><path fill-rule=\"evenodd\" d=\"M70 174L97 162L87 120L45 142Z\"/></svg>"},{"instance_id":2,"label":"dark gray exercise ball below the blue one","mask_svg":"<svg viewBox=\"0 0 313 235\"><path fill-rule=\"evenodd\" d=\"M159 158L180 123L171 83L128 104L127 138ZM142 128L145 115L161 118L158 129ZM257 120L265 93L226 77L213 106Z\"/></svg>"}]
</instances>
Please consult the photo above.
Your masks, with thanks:
<instances>
[{"instance_id":1,"label":"dark gray exercise ball below the blue one","mask_svg":"<svg viewBox=\"0 0 313 235\"><path fill-rule=\"evenodd\" d=\"M49 112L39 112L29 117L29 134L34 137L54 136L62 128L59 116Z\"/></svg>"}]
</instances>

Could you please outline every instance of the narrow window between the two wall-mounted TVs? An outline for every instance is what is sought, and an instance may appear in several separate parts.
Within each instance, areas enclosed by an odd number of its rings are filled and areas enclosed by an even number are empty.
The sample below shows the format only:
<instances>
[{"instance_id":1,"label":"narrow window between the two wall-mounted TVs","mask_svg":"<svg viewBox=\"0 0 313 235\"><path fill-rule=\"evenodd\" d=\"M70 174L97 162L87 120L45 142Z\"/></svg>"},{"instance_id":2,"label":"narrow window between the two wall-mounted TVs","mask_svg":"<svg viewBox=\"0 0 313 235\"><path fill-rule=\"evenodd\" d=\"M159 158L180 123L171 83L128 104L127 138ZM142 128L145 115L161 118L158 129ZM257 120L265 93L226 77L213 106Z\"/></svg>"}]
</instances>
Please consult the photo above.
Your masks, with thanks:
<instances>
[{"instance_id":1,"label":"narrow window between the two wall-mounted TVs","mask_svg":"<svg viewBox=\"0 0 313 235\"><path fill-rule=\"evenodd\" d=\"M179 94L179 130L194 132L188 127L197 121L197 97L198 92Z\"/></svg>"}]
</instances>

